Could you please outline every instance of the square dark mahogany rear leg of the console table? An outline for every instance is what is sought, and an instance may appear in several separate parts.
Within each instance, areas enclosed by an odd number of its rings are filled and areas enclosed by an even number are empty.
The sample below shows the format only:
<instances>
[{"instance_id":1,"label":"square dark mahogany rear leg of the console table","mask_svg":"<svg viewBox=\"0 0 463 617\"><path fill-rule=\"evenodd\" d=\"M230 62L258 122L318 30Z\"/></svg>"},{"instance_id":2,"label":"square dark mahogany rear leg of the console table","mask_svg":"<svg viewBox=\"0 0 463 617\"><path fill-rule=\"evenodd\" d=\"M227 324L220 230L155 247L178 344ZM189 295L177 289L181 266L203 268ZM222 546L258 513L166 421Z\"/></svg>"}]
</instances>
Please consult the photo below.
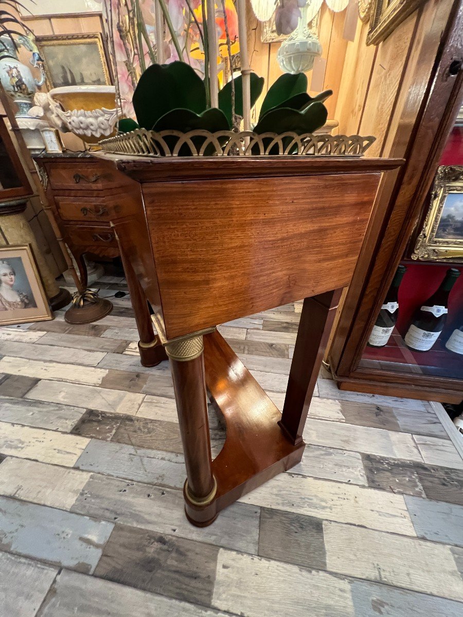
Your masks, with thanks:
<instances>
[{"instance_id":1,"label":"square dark mahogany rear leg of the console table","mask_svg":"<svg viewBox=\"0 0 463 617\"><path fill-rule=\"evenodd\" d=\"M302 431L333 326L342 289L306 298L294 346L290 378L280 424L290 441L302 441Z\"/></svg>"}]
</instances>

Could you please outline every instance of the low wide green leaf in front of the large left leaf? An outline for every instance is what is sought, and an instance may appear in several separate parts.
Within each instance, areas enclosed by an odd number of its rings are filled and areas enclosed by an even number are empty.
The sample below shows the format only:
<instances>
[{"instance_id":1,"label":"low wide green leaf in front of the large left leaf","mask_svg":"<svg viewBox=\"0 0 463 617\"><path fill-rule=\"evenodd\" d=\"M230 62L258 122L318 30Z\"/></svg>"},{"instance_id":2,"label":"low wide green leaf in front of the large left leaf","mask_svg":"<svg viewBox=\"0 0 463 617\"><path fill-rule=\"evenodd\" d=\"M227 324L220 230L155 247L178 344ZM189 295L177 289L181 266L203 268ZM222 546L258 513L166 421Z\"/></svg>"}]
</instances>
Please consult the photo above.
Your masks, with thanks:
<instances>
[{"instance_id":1,"label":"low wide green leaf in front of the large left leaf","mask_svg":"<svg viewBox=\"0 0 463 617\"><path fill-rule=\"evenodd\" d=\"M223 114L223 112L216 107L206 109L206 111L202 112L202 114L195 114L189 109L173 109L162 116L162 118L159 118L156 125L154 125L154 131L156 132L175 130L180 131L181 133L188 133L188 131L193 131L195 129L203 129L205 131L215 133L215 131L228 131L230 130L230 127L228 126L228 120L225 117L225 114ZM171 152L173 151L175 144L177 144L178 139L180 138L175 135L164 137L165 143L167 143ZM206 139L206 137L201 135L191 138L191 141L193 141L194 147L196 147L198 152ZM225 143L226 140L227 138L224 138L223 142ZM211 155L214 154L214 152L214 146L207 146L204 155ZM191 156L191 154L192 153L188 145L184 144L180 147L180 156Z\"/></svg>"}]
</instances>

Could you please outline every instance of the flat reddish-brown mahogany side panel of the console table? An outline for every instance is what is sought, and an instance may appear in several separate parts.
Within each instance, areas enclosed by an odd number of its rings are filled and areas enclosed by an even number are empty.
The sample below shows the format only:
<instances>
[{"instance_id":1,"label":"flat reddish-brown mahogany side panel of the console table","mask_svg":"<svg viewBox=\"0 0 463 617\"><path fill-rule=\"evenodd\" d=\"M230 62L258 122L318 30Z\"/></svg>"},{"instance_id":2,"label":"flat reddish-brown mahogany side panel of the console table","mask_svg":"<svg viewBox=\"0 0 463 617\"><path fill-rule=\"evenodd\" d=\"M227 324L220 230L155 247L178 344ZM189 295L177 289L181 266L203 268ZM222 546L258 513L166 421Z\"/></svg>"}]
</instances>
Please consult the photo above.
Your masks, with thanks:
<instances>
[{"instance_id":1,"label":"flat reddish-brown mahogany side panel of the console table","mask_svg":"<svg viewBox=\"0 0 463 617\"><path fill-rule=\"evenodd\" d=\"M167 337L348 285L379 180L142 184Z\"/></svg>"}]
</instances>

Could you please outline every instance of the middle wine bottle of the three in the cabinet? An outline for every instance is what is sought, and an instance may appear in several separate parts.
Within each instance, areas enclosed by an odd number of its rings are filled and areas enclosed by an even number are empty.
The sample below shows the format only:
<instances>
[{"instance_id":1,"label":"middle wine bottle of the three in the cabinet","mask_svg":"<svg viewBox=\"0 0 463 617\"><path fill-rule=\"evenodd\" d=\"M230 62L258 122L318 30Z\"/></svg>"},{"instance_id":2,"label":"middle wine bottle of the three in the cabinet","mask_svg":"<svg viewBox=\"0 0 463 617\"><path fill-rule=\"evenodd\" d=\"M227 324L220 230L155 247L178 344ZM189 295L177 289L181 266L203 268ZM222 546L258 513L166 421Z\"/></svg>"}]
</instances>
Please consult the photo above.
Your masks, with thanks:
<instances>
[{"instance_id":1,"label":"middle wine bottle of the three in the cabinet","mask_svg":"<svg viewBox=\"0 0 463 617\"><path fill-rule=\"evenodd\" d=\"M449 268L439 289L417 310L404 341L412 351L429 351L444 329L448 313L448 299L460 276L456 268Z\"/></svg>"}]
</instances>

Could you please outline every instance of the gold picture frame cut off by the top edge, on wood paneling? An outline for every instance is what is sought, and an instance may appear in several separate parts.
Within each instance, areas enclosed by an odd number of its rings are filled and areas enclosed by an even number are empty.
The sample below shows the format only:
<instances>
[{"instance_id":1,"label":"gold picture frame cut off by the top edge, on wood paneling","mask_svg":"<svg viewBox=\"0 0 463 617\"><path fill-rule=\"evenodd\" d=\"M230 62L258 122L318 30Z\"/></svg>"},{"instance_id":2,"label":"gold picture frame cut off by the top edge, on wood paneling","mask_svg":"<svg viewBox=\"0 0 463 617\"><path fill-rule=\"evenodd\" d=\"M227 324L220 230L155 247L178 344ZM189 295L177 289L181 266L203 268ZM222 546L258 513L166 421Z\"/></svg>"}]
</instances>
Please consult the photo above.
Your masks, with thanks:
<instances>
[{"instance_id":1,"label":"gold picture frame cut off by the top edge, on wood paneling","mask_svg":"<svg viewBox=\"0 0 463 617\"><path fill-rule=\"evenodd\" d=\"M385 41L426 0L373 0L367 45Z\"/></svg>"}]
</instances>

